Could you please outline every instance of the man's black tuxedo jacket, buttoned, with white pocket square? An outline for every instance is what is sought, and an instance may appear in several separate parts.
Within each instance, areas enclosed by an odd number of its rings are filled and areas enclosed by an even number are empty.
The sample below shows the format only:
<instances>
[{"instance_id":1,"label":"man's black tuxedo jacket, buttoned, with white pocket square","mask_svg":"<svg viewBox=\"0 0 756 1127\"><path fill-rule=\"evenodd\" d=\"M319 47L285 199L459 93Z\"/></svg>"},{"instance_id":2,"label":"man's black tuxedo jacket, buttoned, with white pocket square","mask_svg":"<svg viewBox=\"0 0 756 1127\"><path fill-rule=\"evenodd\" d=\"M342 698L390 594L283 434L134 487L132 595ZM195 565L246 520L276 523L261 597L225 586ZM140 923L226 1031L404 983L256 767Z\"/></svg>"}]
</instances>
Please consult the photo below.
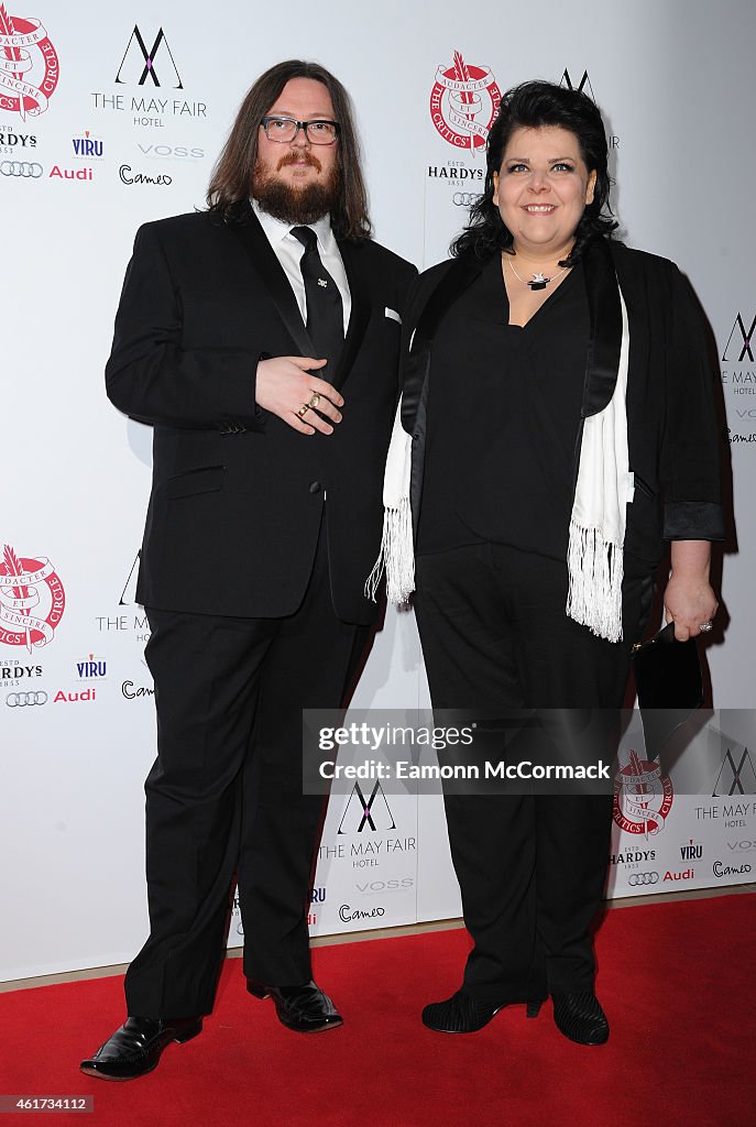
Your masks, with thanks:
<instances>
[{"instance_id":1,"label":"man's black tuxedo jacket, buttoned, with white pocket square","mask_svg":"<svg viewBox=\"0 0 756 1127\"><path fill-rule=\"evenodd\" d=\"M251 208L142 227L116 316L107 392L154 427L152 494L136 597L206 614L299 606L328 492L333 602L368 623L363 584L381 543L382 473L398 397L401 313L413 266L372 241L339 241L352 314L332 435L299 434L255 403L263 356L312 356L296 299Z\"/></svg>"}]
</instances>

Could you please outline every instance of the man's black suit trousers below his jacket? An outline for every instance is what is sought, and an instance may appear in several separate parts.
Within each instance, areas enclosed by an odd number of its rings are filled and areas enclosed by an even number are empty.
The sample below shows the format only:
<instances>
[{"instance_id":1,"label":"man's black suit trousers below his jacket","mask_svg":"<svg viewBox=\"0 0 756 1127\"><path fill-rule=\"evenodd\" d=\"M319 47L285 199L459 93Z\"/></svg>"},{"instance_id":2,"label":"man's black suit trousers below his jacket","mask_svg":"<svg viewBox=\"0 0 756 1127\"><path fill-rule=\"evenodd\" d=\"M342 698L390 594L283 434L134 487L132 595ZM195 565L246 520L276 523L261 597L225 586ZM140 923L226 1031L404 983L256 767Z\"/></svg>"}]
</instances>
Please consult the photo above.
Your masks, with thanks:
<instances>
[{"instance_id":1,"label":"man's black suit trousers below his jacket","mask_svg":"<svg viewBox=\"0 0 756 1127\"><path fill-rule=\"evenodd\" d=\"M150 938L126 975L128 1012L212 1010L234 873L243 969L311 977L308 890L322 797L302 793L302 709L339 708L368 628L333 611L324 532L285 619L148 609L158 757L145 783Z\"/></svg>"}]
</instances>

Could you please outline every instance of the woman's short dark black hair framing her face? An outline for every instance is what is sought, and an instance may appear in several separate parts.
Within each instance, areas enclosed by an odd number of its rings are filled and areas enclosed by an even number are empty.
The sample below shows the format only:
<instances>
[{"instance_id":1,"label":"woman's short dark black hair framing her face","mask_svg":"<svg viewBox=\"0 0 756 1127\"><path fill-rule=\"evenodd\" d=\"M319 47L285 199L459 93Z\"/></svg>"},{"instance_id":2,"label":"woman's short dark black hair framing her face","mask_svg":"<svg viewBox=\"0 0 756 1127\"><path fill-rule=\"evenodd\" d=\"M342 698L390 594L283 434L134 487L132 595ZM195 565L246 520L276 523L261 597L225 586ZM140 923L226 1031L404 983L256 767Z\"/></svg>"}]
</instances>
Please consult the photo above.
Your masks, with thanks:
<instances>
[{"instance_id":1,"label":"woman's short dark black hair framing her face","mask_svg":"<svg viewBox=\"0 0 756 1127\"><path fill-rule=\"evenodd\" d=\"M496 250L512 250L512 232L493 203L493 174L501 168L505 150L515 130L541 128L543 125L557 125L572 133L588 171L596 171L593 202L586 205L578 223L569 257L559 265L573 266L590 239L595 236L608 238L616 230L619 224L610 218L606 132L598 106L580 90L570 90L553 82L522 82L507 90L499 104L498 117L488 134L484 189L470 208L470 223L452 243L453 255L472 250L479 258L488 258ZM607 214L603 214L604 208Z\"/></svg>"}]
</instances>

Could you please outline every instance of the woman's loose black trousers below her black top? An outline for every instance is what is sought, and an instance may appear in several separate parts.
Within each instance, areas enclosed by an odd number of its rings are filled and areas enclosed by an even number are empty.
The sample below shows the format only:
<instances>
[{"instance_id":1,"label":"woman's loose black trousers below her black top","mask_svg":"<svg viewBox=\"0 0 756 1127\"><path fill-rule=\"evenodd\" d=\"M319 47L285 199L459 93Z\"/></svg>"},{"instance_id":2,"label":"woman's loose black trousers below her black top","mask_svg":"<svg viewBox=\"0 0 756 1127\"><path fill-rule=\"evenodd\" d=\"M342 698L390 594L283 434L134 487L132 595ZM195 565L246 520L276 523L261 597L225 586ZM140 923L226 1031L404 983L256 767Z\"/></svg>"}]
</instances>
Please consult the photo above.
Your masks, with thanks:
<instances>
[{"instance_id":1,"label":"woman's loose black trousers below her black top","mask_svg":"<svg viewBox=\"0 0 756 1127\"><path fill-rule=\"evenodd\" d=\"M434 709L597 708L619 720L651 587L650 576L625 579L624 640L613 644L567 618L564 564L490 543L420 556L415 606ZM445 796L474 940L465 990L498 1002L593 988L589 925L606 876L611 802Z\"/></svg>"}]
</instances>

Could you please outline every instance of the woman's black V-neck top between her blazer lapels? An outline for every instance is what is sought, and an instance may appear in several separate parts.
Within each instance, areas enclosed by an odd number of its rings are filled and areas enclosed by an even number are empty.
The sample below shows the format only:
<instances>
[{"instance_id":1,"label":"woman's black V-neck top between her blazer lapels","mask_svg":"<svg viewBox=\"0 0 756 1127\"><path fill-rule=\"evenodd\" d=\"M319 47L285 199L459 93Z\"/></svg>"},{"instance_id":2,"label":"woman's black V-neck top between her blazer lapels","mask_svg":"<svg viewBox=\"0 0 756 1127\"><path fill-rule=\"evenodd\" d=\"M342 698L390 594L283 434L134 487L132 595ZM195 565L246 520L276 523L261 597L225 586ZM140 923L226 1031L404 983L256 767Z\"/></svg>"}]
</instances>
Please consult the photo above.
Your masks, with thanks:
<instances>
[{"instance_id":1,"label":"woman's black V-neck top between her blazer lapels","mask_svg":"<svg viewBox=\"0 0 756 1127\"><path fill-rule=\"evenodd\" d=\"M523 328L497 255L433 341L418 553L491 541L567 557L589 338L582 267Z\"/></svg>"}]
</instances>

